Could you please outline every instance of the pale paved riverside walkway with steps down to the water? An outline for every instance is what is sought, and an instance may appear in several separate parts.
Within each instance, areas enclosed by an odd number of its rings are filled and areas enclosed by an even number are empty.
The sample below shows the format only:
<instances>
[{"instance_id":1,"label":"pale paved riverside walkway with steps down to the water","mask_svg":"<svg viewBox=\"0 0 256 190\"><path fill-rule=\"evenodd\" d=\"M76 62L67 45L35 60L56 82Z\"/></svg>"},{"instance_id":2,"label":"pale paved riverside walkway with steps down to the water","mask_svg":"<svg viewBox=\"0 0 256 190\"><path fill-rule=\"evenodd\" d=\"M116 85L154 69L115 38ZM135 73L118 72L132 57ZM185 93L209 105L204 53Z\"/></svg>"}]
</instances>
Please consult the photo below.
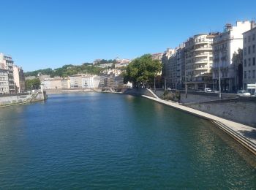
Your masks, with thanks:
<instances>
[{"instance_id":1,"label":"pale paved riverside walkway with steps down to the water","mask_svg":"<svg viewBox=\"0 0 256 190\"><path fill-rule=\"evenodd\" d=\"M225 118L220 118L218 116L211 115L209 113L204 113L202 111L195 110L190 107L186 107L184 105L178 104L177 102L170 102L167 100L157 99L151 96L145 96L145 95L142 95L142 96L147 99L154 100L155 102L165 104L167 106L176 108L178 110L183 110L187 113L197 115L200 118L205 118L208 121L211 121L216 126L219 126L219 128L222 129L224 132L226 132L235 140L237 140L246 149L248 149L249 151L251 151L256 155L256 129L253 128L252 126L246 126L241 123L229 121Z\"/></svg>"}]
</instances>

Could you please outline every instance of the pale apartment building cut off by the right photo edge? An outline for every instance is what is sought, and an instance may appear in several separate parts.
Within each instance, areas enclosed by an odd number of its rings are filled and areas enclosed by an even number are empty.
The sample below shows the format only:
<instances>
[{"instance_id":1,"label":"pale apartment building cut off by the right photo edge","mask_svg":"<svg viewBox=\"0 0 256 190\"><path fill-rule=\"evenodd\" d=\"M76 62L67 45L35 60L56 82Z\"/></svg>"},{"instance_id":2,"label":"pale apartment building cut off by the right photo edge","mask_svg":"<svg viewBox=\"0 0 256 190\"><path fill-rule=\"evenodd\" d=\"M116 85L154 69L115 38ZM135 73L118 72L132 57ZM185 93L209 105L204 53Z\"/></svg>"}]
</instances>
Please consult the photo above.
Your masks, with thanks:
<instances>
[{"instance_id":1,"label":"pale apartment building cut off by the right photo edge","mask_svg":"<svg viewBox=\"0 0 256 190\"><path fill-rule=\"evenodd\" d=\"M251 23L251 29L243 33L244 37L244 89L249 90L252 94L255 93L255 88L251 88L250 84L256 85L256 26Z\"/></svg>"}]
</instances>

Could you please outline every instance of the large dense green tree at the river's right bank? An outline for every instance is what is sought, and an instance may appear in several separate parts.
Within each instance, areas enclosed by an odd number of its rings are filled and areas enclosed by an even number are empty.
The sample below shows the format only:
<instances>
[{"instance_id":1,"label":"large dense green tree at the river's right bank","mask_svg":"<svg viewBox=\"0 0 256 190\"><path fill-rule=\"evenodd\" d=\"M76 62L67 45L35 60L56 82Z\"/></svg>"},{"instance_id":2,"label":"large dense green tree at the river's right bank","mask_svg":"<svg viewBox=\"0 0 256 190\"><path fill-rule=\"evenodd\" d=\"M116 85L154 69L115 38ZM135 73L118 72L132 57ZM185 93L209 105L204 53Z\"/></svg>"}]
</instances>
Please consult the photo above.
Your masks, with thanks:
<instances>
[{"instance_id":1,"label":"large dense green tree at the river's right bank","mask_svg":"<svg viewBox=\"0 0 256 190\"><path fill-rule=\"evenodd\" d=\"M124 83L132 82L135 86L148 86L161 72L162 64L153 60L150 54L135 58L125 69Z\"/></svg>"}]
</instances>

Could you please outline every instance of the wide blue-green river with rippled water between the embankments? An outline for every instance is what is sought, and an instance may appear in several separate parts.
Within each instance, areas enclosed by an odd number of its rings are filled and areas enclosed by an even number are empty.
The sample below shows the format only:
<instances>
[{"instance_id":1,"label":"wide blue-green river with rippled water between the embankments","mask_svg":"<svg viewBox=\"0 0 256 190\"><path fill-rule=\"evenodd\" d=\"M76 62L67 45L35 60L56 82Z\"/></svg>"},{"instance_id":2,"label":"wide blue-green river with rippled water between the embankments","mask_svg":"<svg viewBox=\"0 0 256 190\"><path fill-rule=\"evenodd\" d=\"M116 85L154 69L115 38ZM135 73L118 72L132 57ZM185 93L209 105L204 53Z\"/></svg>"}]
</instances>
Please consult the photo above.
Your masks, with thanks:
<instances>
[{"instance_id":1,"label":"wide blue-green river with rippled water between the embankments","mask_svg":"<svg viewBox=\"0 0 256 190\"><path fill-rule=\"evenodd\" d=\"M141 97L0 109L1 189L255 189L255 163L208 121Z\"/></svg>"}]
</instances>

